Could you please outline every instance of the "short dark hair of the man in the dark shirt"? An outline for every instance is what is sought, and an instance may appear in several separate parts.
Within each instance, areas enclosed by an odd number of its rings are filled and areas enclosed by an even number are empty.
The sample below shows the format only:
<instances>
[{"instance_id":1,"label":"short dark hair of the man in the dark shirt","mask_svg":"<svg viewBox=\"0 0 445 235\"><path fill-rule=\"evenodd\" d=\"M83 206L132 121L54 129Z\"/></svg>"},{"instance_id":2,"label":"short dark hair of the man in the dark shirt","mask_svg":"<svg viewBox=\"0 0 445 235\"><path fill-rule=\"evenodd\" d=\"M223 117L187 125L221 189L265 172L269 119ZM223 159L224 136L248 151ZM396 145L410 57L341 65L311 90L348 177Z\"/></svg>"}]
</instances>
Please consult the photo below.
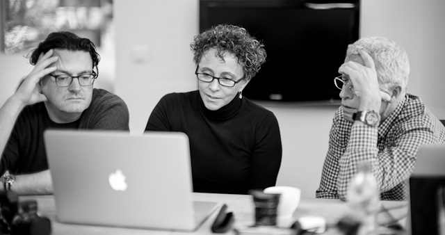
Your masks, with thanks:
<instances>
[{"instance_id":1,"label":"short dark hair of the man in the dark shirt","mask_svg":"<svg viewBox=\"0 0 445 235\"><path fill-rule=\"evenodd\" d=\"M95 44L88 38L79 38L79 36L74 33L67 31L49 33L47 38L43 42L40 42L36 49L31 51L29 63L35 65L40 54L47 53L50 49L67 49L70 51L86 51L90 53L92 69L96 69L96 73L99 74L97 65L99 64L100 56L96 51Z\"/></svg>"}]
</instances>

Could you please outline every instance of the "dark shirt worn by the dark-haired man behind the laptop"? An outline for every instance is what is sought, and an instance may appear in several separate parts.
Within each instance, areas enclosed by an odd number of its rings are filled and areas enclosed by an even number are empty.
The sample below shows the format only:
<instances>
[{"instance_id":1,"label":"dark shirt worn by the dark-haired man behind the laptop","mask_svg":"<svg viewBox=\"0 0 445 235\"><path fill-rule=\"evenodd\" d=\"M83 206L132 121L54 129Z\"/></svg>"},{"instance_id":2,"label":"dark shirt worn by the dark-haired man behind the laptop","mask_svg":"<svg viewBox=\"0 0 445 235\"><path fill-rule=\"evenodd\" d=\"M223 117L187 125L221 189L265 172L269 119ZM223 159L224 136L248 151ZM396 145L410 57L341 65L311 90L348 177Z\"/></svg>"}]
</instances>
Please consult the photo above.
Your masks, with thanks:
<instances>
[{"instance_id":1,"label":"dark shirt worn by the dark-haired man behind the laptop","mask_svg":"<svg viewBox=\"0 0 445 235\"><path fill-rule=\"evenodd\" d=\"M0 175L6 170L21 175L48 169L43 132L46 129L129 130L129 111L117 95L94 89L90 106L79 120L58 124L51 121L43 102L26 106L15 126L0 161Z\"/></svg>"}]
</instances>

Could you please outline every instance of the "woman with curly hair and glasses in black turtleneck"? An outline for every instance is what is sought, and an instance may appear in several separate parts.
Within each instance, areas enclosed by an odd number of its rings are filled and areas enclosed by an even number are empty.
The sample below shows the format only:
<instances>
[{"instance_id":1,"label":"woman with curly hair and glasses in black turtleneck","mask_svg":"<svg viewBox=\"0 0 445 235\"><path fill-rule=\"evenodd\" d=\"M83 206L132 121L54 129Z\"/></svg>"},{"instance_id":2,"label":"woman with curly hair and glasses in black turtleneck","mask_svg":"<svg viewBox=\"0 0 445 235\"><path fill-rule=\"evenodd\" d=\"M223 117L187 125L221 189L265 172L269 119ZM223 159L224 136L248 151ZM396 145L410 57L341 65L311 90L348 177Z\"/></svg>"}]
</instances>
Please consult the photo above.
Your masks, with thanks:
<instances>
[{"instance_id":1,"label":"woman with curly hair and glasses in black turtleneck","mask_svg":"<svg viewBox=\"0 0 445 235\"><path fill-rule=\"evenodd\" d=\"M218 25L191 44L198 90L165 95L145 131L181 131L191 148L193 191L246 194L275 186L282 159L272 112L241 95L266 61L248 31Z\"/></svg>"}]
</instances>

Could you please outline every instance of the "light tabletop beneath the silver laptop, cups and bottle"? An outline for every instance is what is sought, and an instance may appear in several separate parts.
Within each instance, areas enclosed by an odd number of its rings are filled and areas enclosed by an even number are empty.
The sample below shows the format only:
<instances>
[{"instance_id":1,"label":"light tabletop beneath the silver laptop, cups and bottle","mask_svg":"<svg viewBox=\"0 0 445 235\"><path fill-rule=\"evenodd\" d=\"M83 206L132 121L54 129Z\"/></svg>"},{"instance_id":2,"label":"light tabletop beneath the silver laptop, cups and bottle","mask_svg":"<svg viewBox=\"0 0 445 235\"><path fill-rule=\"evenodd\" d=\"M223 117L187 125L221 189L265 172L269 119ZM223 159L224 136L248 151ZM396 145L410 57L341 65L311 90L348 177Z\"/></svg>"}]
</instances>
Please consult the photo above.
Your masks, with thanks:
<instances>
[{"instance_id":1,"label":"light tabletop beneath the silver laptop, cups and bottle","mask_svg":"<svg viewBox=\"0 0 445 235\"><path fill-rule=\"evenodd\" d=\"M234 213L234 227L249 226L254 224L254 204L250 195L227 195L214 193L193 193L193 199L207 202L220 202L227 204L227 211ZM19 200L36 200L38 202L38 212L40 216L51 220L52 234L212 234L210 227L218 214L214 212L204 224L193 233L130 229L120 227L99 227L90 225L70 225L63 224L56 220L56 208L53 195L20 196ZM408 211L407 202L382 202L385 208L389 209L388 214L380 216L380 222L387 222L393 218L403 218ZM346 213L348 207L341 200L331 199L302 199L298 209L294 213L294 218L301 216L322 216L326 219L327 225L334 225ZM405 225L405 219L399 220L401 225ZM233 231L227 234L234 234ZM327 229L325 234L339 234L336 229Z\"/></svg>"}]
</instances>

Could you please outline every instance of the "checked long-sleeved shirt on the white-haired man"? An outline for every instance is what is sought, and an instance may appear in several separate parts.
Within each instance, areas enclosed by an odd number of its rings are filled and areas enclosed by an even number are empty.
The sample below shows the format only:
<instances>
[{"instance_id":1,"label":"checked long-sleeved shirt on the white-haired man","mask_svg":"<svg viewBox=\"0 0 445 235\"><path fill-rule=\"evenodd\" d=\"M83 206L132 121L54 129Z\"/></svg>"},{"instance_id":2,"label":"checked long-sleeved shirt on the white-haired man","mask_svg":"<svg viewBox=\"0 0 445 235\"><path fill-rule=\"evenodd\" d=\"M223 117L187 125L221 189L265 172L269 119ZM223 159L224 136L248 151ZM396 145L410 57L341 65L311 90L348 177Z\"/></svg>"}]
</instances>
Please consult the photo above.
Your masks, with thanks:
<instances>
[{"instance_id":1,"label":"checked long-sleeved shirt on the white-haired man","mask_svg":"<svg viewBox=\"0 0 445 235\"><path fill-rule=\"evenodd\" d=\"M379 127L353 125L335 113L316 197L346 200L359 161L370 161L382 200L406 200L420 145L445 143L445 127L419 97L407 94Z\"/></svg>"}]
</instances>

